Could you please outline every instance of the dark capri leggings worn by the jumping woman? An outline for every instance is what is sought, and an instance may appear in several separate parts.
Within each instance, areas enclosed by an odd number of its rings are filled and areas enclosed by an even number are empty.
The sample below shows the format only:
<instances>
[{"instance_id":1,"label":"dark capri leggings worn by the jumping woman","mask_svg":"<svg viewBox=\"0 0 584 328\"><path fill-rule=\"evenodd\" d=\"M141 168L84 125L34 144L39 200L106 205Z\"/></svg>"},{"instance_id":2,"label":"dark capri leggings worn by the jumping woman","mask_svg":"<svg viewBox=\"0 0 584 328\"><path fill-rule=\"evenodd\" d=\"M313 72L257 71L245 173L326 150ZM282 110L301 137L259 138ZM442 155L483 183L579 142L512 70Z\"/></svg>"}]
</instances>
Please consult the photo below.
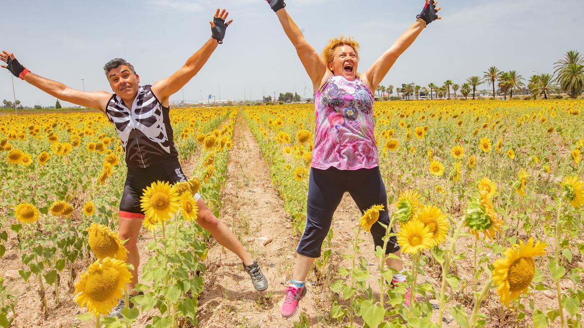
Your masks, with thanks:
<instances>
[{"instance_id":1,"label":"dark capri leggings worn by the jumping woman","mask_svg":"<svg viewBox=\"0 0 584 328\"><path fill-rule=\"evenodd\" d=\"M312 168L308 183L306 227L296 249L298 254L314 258L321 256L322 242L331 228L332 215L345 191L353 197L361 213L372 205L384 205L385 211L379 213L378 222L390 224L387 193L378 166L359 170ZM371 235L375 247L383 247L385 228L378 222L371 226ZM386 253L395 253L398 250L397 238L392 236L387 243Z\"/></svg>"}]
</instances>

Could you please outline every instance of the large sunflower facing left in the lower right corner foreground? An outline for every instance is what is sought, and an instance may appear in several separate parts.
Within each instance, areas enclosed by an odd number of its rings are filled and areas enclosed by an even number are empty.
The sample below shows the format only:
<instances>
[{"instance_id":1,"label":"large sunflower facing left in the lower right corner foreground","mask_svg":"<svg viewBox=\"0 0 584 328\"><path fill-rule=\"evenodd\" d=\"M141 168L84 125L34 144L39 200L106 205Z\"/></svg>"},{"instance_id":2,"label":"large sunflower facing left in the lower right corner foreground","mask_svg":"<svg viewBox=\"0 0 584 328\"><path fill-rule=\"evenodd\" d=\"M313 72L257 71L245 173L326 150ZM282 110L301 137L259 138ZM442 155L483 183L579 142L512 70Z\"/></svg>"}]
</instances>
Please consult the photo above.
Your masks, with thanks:
<instances>
[{"instance_id":1,"label":"large sunflower facing left in the lower right corner foreground","mask_svg":"<svg viewBox=\"0 0 584 328\"><path fill-rule=\"evenodd\" d=\"M534 243L533 239L515 244L503 254L505 257L493 263L493 284L497 288L499 301L509 307L509 303L527 292L536 273L533 257L545 255L545 243Z\"/></svg>"}]
</instances>

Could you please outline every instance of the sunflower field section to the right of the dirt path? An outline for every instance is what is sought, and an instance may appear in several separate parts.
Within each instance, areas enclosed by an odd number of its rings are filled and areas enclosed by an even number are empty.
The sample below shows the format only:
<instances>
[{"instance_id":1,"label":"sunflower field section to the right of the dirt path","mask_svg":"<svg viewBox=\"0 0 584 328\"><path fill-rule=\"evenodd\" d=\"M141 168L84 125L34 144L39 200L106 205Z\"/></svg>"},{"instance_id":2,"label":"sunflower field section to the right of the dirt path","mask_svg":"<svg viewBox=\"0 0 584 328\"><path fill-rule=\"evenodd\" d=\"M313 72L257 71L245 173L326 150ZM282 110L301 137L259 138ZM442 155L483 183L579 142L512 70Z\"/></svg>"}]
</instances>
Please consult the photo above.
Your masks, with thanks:
<instances>
[{"instance_id":1,"label":"sunflower field section to the right of the dirt path","mask_svg":"<svg viewBox=\"0 0 584 328\"><path fill-rule=\"evenodd\" d=\"M247 107L245 116L299 238L314 105L290 106ZM369 327L442 326L447 315L461 327L580 327L583 109L582 100L376 103L390 208L355 221L349 261L336 273L327 269L331 228L315 261L317 273L336 278L331 317L349 326L360 317ZM383 249L377 269L360 260L360 229L383 210L410 268L409 308L405 287L387 283Z\"/></svg>"}]
</instances>

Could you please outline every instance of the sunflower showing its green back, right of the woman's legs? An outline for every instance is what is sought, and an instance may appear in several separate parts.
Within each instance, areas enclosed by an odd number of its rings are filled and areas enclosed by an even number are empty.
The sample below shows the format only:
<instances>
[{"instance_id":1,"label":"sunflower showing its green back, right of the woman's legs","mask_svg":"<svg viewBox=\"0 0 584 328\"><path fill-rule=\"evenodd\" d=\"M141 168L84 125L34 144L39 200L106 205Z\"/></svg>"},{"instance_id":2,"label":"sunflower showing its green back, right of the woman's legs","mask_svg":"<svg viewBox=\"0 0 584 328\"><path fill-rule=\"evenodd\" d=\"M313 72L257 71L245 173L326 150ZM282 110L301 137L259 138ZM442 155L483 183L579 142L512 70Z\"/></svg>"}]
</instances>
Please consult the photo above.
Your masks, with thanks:
<instances>
[{"instance_id":1,"label":"sunflower showing its green back, right of the woman's legs","mask_svg":"<svg viewBox=\"0 0 584 328\"><path fill-rule=\"evenodd\" d=\"M479 238L479 233L482 232L485 238L493 240L496 233L501 231L503 224L503 221L496 217L491 200L482 194L471 200L464 218L465 225L476 238Z\"/></svg>"}]
</instances>

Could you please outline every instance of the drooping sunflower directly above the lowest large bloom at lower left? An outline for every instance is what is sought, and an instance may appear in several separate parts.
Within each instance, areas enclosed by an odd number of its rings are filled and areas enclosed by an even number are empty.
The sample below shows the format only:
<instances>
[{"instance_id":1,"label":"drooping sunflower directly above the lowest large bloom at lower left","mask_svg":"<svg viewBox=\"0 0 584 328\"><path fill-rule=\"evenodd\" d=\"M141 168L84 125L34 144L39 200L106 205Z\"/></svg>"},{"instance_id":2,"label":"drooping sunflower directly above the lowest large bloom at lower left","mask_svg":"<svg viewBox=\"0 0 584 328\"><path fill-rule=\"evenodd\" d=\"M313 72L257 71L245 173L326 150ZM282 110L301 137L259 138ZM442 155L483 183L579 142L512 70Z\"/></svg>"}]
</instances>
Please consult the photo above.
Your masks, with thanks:
<instances>
[{"instance_id":1,"label":"drooping sunflower directly above the lowest large bloom at lower left","mask_svg":"<svg viewBox=\"0 0 584 328\"><path fill-rule=\"evenodd\" d=\"M87 231L89 247L98 259L103 260L105 257L122 261L127 259L128 250L117 233L112 232L107 226L96 223L92 223Z\"/></svg>"}]
</instances>

